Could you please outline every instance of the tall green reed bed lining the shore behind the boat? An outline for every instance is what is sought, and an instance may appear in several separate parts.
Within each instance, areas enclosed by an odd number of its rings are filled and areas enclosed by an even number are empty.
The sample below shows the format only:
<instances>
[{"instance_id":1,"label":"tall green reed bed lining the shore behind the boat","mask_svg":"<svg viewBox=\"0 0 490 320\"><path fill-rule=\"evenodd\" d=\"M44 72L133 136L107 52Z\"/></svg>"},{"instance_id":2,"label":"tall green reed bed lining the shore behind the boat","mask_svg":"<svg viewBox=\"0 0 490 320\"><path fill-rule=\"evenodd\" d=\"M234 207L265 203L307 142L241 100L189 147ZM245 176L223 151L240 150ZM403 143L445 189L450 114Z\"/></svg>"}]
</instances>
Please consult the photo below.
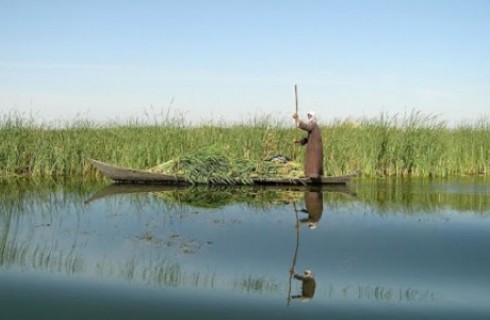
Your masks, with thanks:
<instances>
[{"instance_id":1,"label":"tall green reed bed lining the shore behind the boat","mask_svg":"<svg viewBox=\"0 0 490 320\"><path fill-rule=\"evenodd\" d=\"M380 114L357 121L320 123L326 175L451 177L488 175L490 120L449 127L417 111ZM149 169L203 148L220 148L231 159L275 155L302 164L293 140L304 132L271 116L242 124L186 124L183 117L100 125L74 121L62 127L37 124L18 114L0 115L0 178L101 178L85 157Z\"/></svg>"}]
</instances>

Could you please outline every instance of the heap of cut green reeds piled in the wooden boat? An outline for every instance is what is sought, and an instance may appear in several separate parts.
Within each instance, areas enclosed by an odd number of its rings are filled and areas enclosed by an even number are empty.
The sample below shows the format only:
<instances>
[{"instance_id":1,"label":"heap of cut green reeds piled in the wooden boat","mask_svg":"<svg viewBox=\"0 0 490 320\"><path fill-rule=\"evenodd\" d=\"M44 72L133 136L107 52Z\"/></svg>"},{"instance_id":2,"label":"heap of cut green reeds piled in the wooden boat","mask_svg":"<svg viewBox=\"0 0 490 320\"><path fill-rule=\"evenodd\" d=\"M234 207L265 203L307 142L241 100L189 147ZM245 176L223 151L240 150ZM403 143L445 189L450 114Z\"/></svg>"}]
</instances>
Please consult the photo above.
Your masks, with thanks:
<instances>
[{"instance_id":1,"label":"heap of cut green reeds piled in the wooden boat","mask_svg":"<svg viewBox=\"0 0 490 320\"><path fill-rule=\"evenodd\" d=\"M150 169L176 174L194 183L253 184L253 178L295 179L303 175L300 166L287 157L267 160L234 159L225 148L211 146L169 160Z\"/></svg>"}]
</instances>

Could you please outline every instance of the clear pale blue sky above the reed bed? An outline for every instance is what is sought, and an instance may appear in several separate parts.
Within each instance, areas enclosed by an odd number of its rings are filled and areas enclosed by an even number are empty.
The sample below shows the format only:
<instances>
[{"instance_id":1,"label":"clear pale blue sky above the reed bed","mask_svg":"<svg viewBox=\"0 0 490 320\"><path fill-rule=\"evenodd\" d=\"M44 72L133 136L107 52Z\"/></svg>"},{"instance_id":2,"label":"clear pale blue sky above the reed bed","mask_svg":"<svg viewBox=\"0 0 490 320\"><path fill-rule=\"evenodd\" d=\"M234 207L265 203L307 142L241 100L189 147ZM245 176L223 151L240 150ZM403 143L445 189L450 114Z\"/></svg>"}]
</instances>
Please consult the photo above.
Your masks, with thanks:
<instances>
[{"instance_id":1,"label":"clear pale blue sky above the reed bed","mask_svg":"<svg viewBox=\"0 0 490 320\"><path fill-rule=\"evenodd\" d=\"M487 0L0 0L0 113L322 122L490 110Z\"/></svg>"}]
</instances>

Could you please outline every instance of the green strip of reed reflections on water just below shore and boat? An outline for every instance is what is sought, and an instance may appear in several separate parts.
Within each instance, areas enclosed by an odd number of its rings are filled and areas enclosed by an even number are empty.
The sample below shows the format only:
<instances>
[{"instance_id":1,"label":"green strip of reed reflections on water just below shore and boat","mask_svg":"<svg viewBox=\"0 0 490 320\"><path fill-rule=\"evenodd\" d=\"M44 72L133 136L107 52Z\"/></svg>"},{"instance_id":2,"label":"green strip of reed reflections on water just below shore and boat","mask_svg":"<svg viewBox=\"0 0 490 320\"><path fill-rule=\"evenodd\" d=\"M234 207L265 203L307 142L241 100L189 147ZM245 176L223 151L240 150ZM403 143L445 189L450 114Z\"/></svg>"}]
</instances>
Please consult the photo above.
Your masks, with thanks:
<instances>
[{"instance_id":1,"label":"green strip of reed reflections on water just below shore and boat","mask_svg":"<svg viewBox=\"0 0 490 320\"><path fill-rule=\"evenodd\" d=\"M466 180L443 180L436 183L429 179L405 180L361 180L339 192L324 191L324 200L332 205L345 203L361 203L372 207L373 212L387 214L390 212L436 212L440 210L456 210L490 212L490 190L486 187L484 178ZM367 181L367 182L366 182ZM456 184L461 192L448 192L438 186ZM468 186L480 188L478 192L465 192ZM94 194L94 189L101 189L100 183L85 183L71 181L56 183L48 181L34 183L25 180L3 181L0 184L0 210L2 217L10 214L23 214L34 210L49 215L58 208L67 206L75 210L83 210L81 205ZM152 205L162 210L173 210L176 207L194 206L199 208L222 208L228 205L241 204L257 209L266 209L277 205L299 201L302 198L301 189L256 189L256 188L174 188L162 192L144 192L133 195L127 201L136 209L148 205L148 195L156 200ZM111 194L110 196L113 196ZM96 201L96 200L94 200ZM7 223L2 221L3 225Z\"/></svg>"}]
</instances>

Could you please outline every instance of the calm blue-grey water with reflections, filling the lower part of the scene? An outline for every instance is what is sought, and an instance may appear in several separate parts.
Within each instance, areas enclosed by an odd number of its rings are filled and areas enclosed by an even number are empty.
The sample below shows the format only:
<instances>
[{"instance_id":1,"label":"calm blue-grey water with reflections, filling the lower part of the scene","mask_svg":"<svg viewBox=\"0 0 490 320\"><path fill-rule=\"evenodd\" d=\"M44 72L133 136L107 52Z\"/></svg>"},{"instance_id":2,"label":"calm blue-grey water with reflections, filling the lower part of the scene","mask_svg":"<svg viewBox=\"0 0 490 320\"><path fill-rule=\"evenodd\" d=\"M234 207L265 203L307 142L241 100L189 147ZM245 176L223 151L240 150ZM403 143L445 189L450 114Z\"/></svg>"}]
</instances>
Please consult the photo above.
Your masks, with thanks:
<instances>
[{"instance_id":1,"label":"calm blue-grey water with reflections, filling the lower part of the scene","mask_svg":"<svg viewBox=\"0 0 490 320\"><path fill-rule=\"evenodd\" d=\"M0 319L490 317L482 178L0 190Z\"/></svg>"}]
</instances>

